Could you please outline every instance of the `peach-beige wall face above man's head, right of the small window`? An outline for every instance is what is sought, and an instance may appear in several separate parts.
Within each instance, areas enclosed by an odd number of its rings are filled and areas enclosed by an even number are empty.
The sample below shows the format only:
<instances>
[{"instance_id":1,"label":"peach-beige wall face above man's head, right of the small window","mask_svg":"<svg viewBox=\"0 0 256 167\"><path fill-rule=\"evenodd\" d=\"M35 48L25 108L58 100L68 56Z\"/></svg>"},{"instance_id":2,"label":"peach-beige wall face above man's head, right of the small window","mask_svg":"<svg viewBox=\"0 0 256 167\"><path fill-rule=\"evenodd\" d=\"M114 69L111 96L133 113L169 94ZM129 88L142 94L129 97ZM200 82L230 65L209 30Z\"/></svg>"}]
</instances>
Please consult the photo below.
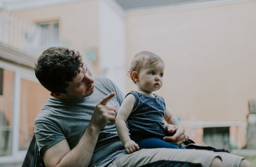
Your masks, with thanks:
<instances>
[{"instance_id":1,"label":"peach-beige wall face above man's head, right of the small window","mask_svg":"<svg viewBox=\"0 0 256 167\"><path fill-rule=\"evenodd\" d=\"M24 24L58 20L60 40L82 55L92 48L99 48L99 1L84 0L26 8L12 11L10 15L24 20ZM95 76L100 74L97 64L88 63Z\"/></svg>"}]
</instances>

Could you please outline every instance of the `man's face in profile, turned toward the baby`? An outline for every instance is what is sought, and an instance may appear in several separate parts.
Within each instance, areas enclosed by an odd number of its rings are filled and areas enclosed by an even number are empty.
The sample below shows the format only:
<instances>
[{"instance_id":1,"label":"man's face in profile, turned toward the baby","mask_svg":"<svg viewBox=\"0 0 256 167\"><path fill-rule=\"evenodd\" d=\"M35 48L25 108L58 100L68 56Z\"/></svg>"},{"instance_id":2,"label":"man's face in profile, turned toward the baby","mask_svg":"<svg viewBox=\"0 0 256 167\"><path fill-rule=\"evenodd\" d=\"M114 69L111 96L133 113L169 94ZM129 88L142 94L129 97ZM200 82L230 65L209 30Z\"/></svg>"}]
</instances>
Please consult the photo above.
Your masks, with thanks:
<instances>
[{"instance_id":1,"label":"man's face in profile, turned toward the baby","mask_svg":"<svg viewBox=\"0 0 256 167\"><path fill-rule=\"evenodd\" d=\"M81 99L90 96L94 91L94 80L92 79L91 71L86 68L81 68L80 73L72 82L68 82L67 92L61 94L64 99Z\"/></svg>"}]
</instances>

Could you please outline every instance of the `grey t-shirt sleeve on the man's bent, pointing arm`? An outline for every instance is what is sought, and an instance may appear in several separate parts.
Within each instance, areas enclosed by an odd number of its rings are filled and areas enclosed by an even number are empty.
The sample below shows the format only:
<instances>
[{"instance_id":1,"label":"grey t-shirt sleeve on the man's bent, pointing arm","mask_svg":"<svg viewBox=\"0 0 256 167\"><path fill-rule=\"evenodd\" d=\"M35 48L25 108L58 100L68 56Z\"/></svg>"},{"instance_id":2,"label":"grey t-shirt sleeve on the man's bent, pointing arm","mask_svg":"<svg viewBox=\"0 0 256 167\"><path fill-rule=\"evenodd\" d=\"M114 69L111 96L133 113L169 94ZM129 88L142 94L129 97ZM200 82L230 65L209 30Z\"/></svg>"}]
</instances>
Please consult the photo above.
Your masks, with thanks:
<instances>
[{"instance_id":1,"label":"grey t-shirt sleeve on the man's bent, pointing arm","mask_svg":"<svg viewBox=\"0 0 256 167\"><path fill-rule=\"evenodd\" d=\"M58 125L44 118L36 118L35 136L41 156L44 154L45 150L66 138Z\"/></svg>"}]
</instances>

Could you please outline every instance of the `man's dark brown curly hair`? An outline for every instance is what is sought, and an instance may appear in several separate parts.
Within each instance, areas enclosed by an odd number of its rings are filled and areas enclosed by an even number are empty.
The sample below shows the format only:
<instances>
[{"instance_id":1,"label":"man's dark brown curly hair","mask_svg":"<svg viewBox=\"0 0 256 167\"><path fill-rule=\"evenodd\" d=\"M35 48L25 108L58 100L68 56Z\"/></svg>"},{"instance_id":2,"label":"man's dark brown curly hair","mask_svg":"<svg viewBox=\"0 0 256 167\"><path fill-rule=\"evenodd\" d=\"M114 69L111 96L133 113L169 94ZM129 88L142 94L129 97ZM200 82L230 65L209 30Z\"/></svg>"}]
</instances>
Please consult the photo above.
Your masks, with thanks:
<instances>
[{"instance_id":1,"label":"man's dark brown curly hair","mask_svg":"<svg viewBox=\"0 0 256 167\"><path fill-rule=\"evenodd\" d=\"M72 82L83 68L79 52L64 47L47 48L35 64L35 75L49 91L65 93L68 82Z\"/></svg>"}]
</instances>

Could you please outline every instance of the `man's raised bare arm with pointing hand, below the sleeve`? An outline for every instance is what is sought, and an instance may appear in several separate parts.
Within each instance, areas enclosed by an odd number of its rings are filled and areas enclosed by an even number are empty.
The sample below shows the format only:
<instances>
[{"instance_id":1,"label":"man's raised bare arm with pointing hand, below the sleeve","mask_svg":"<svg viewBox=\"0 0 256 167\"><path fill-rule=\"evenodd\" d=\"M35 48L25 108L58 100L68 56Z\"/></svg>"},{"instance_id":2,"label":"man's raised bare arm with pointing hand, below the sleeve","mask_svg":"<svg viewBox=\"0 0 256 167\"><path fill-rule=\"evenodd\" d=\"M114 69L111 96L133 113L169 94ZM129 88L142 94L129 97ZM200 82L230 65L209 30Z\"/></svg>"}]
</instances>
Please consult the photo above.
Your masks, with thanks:
<instances>
[{"instance_id":1,"label":"man's raised bare arm with pointing hand, below the sleeve","mask_svg":"<svg viewBox=\"0 0 256 167\"><path fill-rule=\"evenodd\" d=\"M89 125L76 147L70 150L67 140L61 140L44 152L45 166L88 166L92 159L100 131L106 126L108 120L115 122L115 109L106 106L115 93L108 94L95 107Z\"/></svg>"}]
</instances>

